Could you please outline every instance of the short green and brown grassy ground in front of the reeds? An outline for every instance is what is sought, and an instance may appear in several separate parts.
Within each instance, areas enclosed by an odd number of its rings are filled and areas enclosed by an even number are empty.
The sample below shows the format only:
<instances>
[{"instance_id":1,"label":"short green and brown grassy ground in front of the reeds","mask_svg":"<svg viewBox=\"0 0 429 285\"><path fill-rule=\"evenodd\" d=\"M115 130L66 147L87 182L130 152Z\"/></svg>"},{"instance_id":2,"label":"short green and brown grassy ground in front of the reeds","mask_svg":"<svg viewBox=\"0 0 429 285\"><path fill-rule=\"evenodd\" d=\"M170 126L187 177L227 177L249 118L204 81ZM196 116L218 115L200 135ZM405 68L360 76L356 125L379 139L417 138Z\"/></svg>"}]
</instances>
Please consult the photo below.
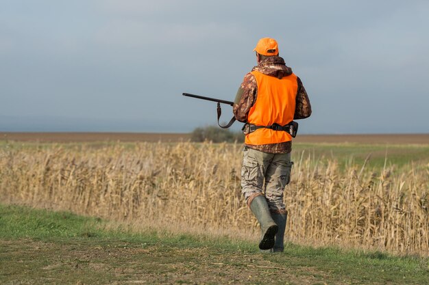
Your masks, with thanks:
<instances>
[{"instance_id":1,"label":"short green and brown grassy ground in front of the reeds","mask_svg":"<svg viewBox=\"0 0 429 285\"><path fill-rule=\"evenodd\" d=\"M429 259L226 237L0 205L0 284L427 284ZM109 230L110 229L110 230Z\"/></svg>"}]
</instances>

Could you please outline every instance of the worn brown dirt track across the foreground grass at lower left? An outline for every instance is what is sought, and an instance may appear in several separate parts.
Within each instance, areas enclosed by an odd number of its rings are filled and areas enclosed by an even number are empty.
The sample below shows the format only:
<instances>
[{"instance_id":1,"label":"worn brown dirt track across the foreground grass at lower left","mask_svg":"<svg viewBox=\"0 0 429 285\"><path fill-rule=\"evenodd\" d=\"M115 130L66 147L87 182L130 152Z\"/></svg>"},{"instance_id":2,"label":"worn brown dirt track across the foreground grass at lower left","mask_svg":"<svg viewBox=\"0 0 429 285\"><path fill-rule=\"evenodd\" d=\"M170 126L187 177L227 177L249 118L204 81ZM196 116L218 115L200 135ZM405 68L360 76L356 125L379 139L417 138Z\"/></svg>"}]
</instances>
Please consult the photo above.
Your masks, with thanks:
<instances>
[{"instance_id":1,"label":"worn brown dirt track across the foreground grass at lower left","mask_svg":"<svg viewBox=\"0 0 429 285\"><path fill-rule=\"evenodd\" d=\"M280 256L278 256L280 257ZM206 247L0 241L1 284L323 284L312 267ZM287 260L285 258L285 260ZM295 260L296 261L296 260ZM18 282L19 283L16 283ZM335 284L332 281L329 284Z\"/></svg>"}]
</instances>

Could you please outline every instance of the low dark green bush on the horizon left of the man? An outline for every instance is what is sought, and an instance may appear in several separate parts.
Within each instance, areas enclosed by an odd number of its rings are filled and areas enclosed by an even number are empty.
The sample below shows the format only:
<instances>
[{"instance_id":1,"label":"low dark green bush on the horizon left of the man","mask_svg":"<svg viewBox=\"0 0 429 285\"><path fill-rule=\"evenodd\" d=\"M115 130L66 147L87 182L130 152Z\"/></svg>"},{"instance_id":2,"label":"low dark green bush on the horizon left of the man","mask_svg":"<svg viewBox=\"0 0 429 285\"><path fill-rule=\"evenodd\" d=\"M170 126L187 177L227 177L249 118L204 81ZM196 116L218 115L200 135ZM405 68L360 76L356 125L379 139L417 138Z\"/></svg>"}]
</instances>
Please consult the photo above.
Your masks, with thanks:
<instances>
[{"instance_id":1,"label":"low dark green bush on the horizon left of the man","mask_svg":"<svg viewBox=\"0 0 429 285\"><path fill-rule=\"evenodd\" d=\"M241 132L232 132L219 126L198 127L191 133L191 140L196 142L212 141L219 142L243 142L244 135Z\"/></svg>"}]
</instances>

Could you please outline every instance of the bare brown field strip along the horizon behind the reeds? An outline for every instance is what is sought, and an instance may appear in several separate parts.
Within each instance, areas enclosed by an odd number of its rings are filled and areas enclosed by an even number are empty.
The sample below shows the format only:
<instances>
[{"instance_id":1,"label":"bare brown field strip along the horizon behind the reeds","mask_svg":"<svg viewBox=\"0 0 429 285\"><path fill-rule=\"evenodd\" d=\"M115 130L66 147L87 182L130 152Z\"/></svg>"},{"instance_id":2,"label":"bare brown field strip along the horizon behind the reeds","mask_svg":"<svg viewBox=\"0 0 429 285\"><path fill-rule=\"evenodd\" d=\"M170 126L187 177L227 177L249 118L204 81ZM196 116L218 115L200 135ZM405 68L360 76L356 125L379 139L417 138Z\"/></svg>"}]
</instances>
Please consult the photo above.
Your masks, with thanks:
<instances>
[{"instance_id":1,"label":"bare brown field strip along the horizon behind the reeds","mask_svg":"<svg viewBox=\"0 0 429 285\"><path fill-rule=\"evenodd\" d=\"M0 141L91 142L91 141L187 141L189 133L2 133ZM297 143L429 144L427 134L389 135L298 135Z\"/></svg>"}]
</instances>

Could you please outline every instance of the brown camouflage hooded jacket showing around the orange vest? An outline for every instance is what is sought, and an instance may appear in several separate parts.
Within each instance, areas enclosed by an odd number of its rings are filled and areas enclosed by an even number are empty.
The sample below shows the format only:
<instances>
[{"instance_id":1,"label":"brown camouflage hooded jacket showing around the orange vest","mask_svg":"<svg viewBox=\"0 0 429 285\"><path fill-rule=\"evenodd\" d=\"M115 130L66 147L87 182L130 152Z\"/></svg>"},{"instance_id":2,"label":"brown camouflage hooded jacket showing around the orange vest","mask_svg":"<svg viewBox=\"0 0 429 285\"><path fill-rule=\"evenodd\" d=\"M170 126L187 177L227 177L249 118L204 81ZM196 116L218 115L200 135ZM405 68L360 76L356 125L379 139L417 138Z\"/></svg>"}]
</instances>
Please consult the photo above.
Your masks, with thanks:
<instances>
[{"instance_id":1,"label":"brown camouflage hooded jacket showing around the orange vest","mask_svg":"<svg viewBox=\"0 0 429 285\"><path fill-rule=\"evenodd\" d=\"M252 68L252 71L258 71L269 76L282 77L292 74L292 69L284 64L284 59L282 57L273 56L267 57L262 62ZM308 118L311 115L311 105L310 100L308 99L307 92L302 85L301 79L297 77L298 89L296 96L296 107L294 119L304 119ZM256 79L252 73L247 73L238 88L236 98L234 100L234 107L232 111L236 120L240 122L247 122L247 116L249 114L250 108L256 102L258 96L258 85ZM262 152L269 153L287 153L292 150L292 142L286 141L279 144L264 144L260 146L247 145L249 148L254 148L255 150L260 150Z\"/></svg>"}]
</instances>

